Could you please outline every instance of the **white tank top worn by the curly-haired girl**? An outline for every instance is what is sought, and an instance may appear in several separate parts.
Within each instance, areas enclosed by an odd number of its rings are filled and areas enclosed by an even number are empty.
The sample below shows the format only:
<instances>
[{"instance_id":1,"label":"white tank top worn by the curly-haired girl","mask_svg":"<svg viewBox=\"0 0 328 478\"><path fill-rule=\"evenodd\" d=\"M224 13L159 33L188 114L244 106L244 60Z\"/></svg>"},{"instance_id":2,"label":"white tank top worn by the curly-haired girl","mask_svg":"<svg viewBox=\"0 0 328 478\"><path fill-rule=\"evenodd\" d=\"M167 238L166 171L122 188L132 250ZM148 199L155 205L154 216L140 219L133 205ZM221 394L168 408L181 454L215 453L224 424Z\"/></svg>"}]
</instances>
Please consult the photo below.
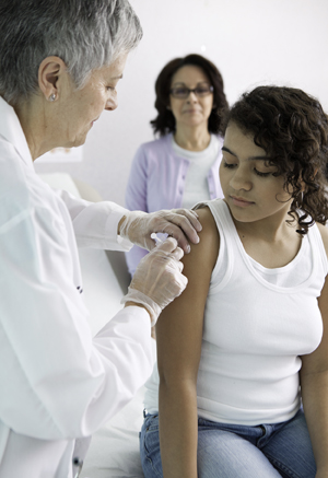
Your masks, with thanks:
<instances>
[{"instance_id":1,"label":"white tank top worn by the curly-haired girl","mask_svg":"<svg viewBox=\"0 0 328 478\"><path fill-rule=\"evenodd\" d=\"M222 199L207 202L220 233L220 252L204 312L197 381L198 415L256 425L291 419L300 408L300 355L320 343L317 298L328 263L317 225L296 257L267 269L251 259ZM183 338L181 338L183 340ZM144 406L159 410L155 364Z\"/></svg>"}]
</instances>

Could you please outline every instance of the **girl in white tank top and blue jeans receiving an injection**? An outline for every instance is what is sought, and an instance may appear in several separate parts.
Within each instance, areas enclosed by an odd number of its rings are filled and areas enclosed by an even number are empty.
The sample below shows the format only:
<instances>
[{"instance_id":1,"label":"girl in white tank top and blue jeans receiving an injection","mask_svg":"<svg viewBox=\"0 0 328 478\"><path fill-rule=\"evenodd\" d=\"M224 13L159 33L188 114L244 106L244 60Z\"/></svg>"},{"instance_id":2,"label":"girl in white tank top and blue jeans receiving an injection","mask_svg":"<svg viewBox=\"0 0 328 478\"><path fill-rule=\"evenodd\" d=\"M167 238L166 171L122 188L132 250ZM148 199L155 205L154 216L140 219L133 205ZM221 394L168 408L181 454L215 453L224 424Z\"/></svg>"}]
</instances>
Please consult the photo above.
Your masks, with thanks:
<instances>
[{"instance_id":1,"label":"girl in white tank top and blue jeans receiving an injection","mask_svg":"<svg viewBox=\"0 0 328 478\"><path fill-rule=\"evenodd\" d=\"M224 124L224 199L199 205L188 287L156 325L144 475L327 478L328 117L259 86Z\"/></svg>"}]
</instances>

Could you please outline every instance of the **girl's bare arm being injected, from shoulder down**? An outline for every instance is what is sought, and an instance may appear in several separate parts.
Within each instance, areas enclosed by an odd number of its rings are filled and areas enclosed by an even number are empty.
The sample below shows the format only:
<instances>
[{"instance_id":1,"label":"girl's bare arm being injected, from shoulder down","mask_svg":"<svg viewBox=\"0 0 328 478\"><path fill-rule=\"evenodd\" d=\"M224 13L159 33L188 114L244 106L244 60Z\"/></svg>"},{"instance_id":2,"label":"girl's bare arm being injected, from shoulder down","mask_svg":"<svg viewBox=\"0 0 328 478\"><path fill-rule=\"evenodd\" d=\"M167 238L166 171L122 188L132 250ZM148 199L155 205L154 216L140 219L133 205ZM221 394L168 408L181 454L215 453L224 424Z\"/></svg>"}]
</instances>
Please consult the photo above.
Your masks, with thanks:
<instances>
[{"instance_id":1,"label":"girl's bare arm being injected, from shoulder down","mask_svg":"<svg viewBox=\"0 0 328 478\"><path fill-rule=\"evenodd\" d=\"M219 254L219 233L208 208L197 210L201 241L183 258L188 285L156 325L160 373L160 444L164 477L197 478L197 374L203 313Z\"/></svg>"}]
</instances>

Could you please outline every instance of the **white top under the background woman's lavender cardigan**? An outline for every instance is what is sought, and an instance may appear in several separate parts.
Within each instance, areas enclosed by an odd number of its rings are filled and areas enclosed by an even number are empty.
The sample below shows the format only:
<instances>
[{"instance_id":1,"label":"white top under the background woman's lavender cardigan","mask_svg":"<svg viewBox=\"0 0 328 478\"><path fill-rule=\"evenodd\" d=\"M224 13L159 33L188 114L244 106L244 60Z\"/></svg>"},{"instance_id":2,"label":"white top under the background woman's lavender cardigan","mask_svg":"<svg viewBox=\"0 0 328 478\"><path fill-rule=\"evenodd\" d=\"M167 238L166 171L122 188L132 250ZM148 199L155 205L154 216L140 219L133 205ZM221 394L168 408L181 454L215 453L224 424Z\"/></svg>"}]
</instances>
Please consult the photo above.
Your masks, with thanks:
<instances>
[{"instance_id":1,"label":"white top under the background woman's lavender cardigan","mask_svg":"<svg viewBox=\"0 0 328 478\"><path fill-rule=\"evenodd\" d=\"M190 162L187 171L185 190L183 196L183 208L190 209L199 201L210 199L210 191L207 176L209 170L218 158L220 141L216 136L211 135L210 144L202 151L188 151L180 148L172 137L174 152Z\"/></svg>"}]
</instances>

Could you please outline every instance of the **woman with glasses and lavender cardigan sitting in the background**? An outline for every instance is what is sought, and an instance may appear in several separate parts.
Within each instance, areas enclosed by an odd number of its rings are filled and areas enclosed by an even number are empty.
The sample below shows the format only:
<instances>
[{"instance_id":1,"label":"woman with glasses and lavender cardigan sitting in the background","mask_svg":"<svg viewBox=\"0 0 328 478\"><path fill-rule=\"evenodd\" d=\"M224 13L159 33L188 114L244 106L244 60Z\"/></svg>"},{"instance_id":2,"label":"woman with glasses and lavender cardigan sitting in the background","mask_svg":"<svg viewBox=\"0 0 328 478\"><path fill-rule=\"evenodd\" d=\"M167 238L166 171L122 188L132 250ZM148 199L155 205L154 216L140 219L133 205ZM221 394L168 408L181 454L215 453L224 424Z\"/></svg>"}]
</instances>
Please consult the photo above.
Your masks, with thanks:
<instances>
[{"instance_id":1,"label":"woman with glasses and lavender cardigan sitting in the background","mask_svg":"<svg viewBox=\"0 0 328 478\"><path fill-rule=\"evenodd\" d=\"M127 209L191 208L200 200L222 197L219 130L227 102L220 71L200 55L176 58L159 74L155 91L159 114L151 125L160 139L136 153ZM131 275L145 254L133 246L126 255Z\"/></svg>"}]
</instances>

